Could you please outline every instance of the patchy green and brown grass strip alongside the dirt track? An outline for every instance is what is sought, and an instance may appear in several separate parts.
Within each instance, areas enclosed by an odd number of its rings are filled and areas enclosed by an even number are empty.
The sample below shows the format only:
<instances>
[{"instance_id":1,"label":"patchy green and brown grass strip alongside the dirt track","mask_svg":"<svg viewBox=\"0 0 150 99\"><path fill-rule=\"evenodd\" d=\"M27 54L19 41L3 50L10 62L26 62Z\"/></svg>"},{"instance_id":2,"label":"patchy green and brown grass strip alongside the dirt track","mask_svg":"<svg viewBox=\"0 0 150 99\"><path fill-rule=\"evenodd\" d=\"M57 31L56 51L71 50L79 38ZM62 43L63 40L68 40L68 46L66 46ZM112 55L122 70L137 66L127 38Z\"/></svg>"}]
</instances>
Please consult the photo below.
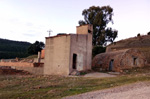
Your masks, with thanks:
<instances>
[{"instance_id":1,"label":"patchy green and brown grass strip alongside the dirt track","mask_svg":"<svg viewBox=\"0 0 150 99\"><path fill-rule=\"evenodd\" d=\"M114 78L0 75L0 99L59 99L69 95L150 81L150 67Z\"/></svg>"}]
</instances>

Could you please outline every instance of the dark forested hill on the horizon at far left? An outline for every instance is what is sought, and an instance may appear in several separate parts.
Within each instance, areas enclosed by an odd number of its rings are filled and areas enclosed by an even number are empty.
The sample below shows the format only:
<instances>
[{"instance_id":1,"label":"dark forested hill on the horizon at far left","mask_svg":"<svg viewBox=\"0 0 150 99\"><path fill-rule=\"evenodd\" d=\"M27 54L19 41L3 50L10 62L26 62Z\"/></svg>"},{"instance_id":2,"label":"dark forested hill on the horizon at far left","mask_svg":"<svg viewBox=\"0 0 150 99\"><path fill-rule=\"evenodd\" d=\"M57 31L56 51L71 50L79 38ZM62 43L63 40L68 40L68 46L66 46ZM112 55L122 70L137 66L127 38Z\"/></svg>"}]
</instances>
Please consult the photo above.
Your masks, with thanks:
<instances>
[{"instance_id":1,"label":"dark forested hill on the horizon at far left","mask_svg":"<svg viewBox=\"0 0 150 99\"><path fill-rule=\"evenodd\" d=\"M29 42L13 41L0 38L0 59L23 58L28 56Z\"/></svg>"}]
</instances>

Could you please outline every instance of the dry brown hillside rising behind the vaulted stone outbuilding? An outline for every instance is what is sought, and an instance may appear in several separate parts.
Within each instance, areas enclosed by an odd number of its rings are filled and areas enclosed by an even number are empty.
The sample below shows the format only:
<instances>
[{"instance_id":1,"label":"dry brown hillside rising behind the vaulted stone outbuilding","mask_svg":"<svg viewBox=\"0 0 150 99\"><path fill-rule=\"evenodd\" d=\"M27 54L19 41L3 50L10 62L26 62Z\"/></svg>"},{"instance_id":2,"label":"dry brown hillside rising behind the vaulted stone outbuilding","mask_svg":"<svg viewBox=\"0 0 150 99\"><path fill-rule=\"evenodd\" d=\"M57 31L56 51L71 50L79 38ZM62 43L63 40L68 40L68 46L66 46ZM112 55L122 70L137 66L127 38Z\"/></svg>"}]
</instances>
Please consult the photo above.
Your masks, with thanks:
<instances>
[{"instance_id":1,"label":"dry brown hillside rising behind the vaulted stone outbuilding","mask_svg":"<svg viewBox=\"0 0 150 99\"><path fill-rule=\"evenodd\" d=\"M148 63L150 63L150 35L120 40L118 42L108 45L106 52L129 48L139 49L141 52L145 54Z\"/></svg>"}]
</instances>

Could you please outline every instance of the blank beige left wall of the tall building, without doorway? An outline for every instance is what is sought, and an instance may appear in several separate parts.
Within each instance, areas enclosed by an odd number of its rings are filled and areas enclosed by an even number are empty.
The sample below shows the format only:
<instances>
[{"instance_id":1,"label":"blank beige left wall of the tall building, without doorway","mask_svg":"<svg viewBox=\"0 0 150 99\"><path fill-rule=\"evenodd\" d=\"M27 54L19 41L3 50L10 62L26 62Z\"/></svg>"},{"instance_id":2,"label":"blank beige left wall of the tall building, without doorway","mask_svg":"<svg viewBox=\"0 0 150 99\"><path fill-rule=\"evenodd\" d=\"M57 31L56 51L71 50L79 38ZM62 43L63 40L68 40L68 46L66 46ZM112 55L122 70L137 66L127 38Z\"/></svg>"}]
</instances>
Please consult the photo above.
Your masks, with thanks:
<instances>
[{"instance_id":1,"label":"blank beige left wall of the tall building, without doorway","mask_svg":"<svg viewBox=\"0 0 150 99\"><path fill-rule=\"evenodd\" d=\"M46 38L44 74L69 74L70 35Z\"/></svg>"}]
</instances>

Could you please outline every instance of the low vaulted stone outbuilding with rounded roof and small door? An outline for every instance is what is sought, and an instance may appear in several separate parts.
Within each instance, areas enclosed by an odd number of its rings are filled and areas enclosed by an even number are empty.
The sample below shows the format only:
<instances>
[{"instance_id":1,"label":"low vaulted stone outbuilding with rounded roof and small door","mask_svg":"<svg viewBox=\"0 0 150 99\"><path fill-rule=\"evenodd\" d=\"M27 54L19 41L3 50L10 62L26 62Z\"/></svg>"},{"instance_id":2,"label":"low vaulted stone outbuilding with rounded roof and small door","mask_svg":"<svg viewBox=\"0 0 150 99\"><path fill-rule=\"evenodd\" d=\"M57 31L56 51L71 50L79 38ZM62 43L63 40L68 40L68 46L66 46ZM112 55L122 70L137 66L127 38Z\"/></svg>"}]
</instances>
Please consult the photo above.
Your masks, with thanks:
<instances>
[{"instance_id":1,"label":"low vaulted stone outbuilding with rounded roof and small door","mask_svg":"<svg viewBox=\"0 0 150 99\"><path fill-rule=\"evenodd\" d=\"M143 53L137 49L124 49L101 53L94 57L92 67L99 71L118 71L132 67L143 67L146 58Z\"/></svg>"}]
</instances>

